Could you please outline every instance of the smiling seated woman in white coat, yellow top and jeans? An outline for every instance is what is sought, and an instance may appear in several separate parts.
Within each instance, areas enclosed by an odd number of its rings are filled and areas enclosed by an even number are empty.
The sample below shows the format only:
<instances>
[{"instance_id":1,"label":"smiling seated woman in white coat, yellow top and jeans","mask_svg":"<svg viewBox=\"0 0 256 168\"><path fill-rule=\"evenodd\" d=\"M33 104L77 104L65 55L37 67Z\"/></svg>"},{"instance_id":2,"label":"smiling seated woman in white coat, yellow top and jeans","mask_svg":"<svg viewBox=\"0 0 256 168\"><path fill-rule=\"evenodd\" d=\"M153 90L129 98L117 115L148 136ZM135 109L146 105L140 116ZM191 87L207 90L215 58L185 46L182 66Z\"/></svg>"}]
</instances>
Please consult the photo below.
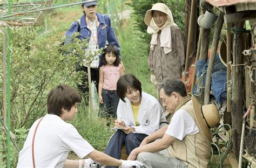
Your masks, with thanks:
<instances>
[{"instance_id":1,"label":"smiling seated woman in white coat, yellow top and jeans","mask_svg":"<svg viewBox=\"0 0 256 168\"><path fill-rule=\"evenodd\" d=\"M118 129L110 138L105 153L111 157L121 157L123 144L126 155L137 148L145 137L159 129L165 123L163 109L155 97L142 92L142 83L132 74L125 74L117 81L117 95L120 98L117 107Z\"/></svg>"}]
</instances>

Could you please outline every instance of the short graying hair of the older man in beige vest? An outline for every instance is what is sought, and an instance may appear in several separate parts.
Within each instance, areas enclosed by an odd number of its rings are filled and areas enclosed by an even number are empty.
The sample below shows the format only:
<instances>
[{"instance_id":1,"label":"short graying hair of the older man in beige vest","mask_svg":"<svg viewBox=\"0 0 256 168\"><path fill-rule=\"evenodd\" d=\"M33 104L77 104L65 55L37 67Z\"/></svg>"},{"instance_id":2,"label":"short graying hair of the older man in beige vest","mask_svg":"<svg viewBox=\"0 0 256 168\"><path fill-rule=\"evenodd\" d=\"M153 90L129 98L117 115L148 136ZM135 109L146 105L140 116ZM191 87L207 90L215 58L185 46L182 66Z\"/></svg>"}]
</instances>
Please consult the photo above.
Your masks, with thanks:
<instances>
[{"instance_id":1,"label":"short graying hair of the older man in beige vest","mask_svg":"<svg viewBox=\"0 0 256 168\"><path fill-rule=\"evenodd\" d=\"M183 81L174 79L174 78L166 78L158 83L158 91L160 92L161 88L164 89L164 93L167 96L171 96L173 92L178 93L179 95L185 97L187 96L186 87Z\"/></svg>"}]
</instances>

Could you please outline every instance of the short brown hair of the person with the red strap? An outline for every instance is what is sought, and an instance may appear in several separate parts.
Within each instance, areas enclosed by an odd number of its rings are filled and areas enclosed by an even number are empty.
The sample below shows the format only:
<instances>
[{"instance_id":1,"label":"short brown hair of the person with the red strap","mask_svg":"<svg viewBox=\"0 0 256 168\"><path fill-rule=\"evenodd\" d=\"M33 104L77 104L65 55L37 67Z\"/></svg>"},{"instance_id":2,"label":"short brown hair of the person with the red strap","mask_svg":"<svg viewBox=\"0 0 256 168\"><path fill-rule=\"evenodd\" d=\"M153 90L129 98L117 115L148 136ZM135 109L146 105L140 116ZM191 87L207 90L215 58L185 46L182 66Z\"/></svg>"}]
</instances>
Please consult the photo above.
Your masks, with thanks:
<instances>
[{"instance_id":1,"label":"short brown hair of the person with the red strap","mask_svg":"<svg viewBox=\"0 0 256 168\"><path fill-rule=\"evenodd\" d=\"M48 114L62 115L62 108L70 110L80 101L80 95L76 89L68 85L59 85L53 88L47 99Z\"/></svg>"}]
</instances>

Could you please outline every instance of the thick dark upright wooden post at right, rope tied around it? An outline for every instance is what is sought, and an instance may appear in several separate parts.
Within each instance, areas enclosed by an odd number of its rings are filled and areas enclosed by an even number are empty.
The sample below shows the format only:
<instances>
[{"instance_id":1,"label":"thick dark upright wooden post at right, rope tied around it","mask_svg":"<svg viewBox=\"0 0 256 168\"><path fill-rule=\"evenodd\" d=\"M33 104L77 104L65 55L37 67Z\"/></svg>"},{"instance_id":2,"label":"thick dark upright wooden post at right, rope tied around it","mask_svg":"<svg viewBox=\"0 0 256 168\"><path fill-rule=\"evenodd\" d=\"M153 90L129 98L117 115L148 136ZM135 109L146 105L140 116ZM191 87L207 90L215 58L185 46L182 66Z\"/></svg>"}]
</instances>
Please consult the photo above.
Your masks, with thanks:
<instances>
[{"instance_id":1,"label":"thick dark upright wooden post at right, rope tied around it","mask_svg":"<svg viewBox=\"0 0 256 168\"><path fill-rule=\"evenodd\" d=\"M234 28L242 29L244 22L234 23ZM244 111L244 39L243 33L235 33L233 38L233 89L232 89L232 103L231 116L232 128L235 130L233 134L237 134L237 141L233 141L234 149L240 149L240 140L242 132L242 114ZM238 65L238 66L236 66ZM238 152L234 153L238 157Z\"/></svg>"}]
</instances>

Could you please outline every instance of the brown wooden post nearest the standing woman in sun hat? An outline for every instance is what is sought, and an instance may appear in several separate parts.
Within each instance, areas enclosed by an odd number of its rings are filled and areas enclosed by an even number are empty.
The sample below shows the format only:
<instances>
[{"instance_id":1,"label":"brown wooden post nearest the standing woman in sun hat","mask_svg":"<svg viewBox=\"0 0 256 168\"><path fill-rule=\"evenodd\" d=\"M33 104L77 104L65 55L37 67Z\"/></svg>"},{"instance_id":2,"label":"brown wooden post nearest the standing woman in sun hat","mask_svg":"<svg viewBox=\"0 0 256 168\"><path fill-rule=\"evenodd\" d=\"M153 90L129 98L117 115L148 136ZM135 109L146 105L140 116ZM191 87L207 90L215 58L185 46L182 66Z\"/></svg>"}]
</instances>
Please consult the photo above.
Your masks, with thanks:
<instances>
[{"instance_id":1,"label":"brown wooden post nearest the standing woman in sun hat","mask_svg":"<svg viewBox=\"0 0 256 168\"><path fill-rule=\"evenodd\" d=\"M185 72L188 71L188 60L190 54L196 50L196 38L197 38L197 4L198 0L192 0L191 2L191 12L190 12L190 24L188 29L188 40L187 40L187 52L186 52L186 64ZM186 73L185 73L186 74Z\"/></svg>"}]
</instances>

